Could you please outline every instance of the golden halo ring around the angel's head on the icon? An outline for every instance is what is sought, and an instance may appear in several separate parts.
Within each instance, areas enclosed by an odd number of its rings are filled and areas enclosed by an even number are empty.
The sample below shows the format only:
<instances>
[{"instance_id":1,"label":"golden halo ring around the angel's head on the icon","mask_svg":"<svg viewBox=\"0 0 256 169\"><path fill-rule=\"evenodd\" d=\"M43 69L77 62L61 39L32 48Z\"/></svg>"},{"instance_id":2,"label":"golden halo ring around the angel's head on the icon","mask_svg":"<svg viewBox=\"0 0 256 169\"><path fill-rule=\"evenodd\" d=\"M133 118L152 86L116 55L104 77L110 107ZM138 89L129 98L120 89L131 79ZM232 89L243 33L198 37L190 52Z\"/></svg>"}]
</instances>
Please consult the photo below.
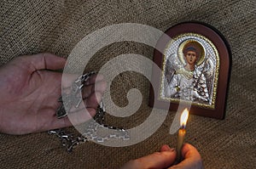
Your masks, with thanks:
<instances>
[{"instance_id":1,"label":"golden halo ring around the angel's head on the icon","mask_svg":"<svg viewBox=\"0 0 256 169\"><path fill-rule=\"evenodd\" d=\"M184 54L183 54L183 50L185 47L187 47L189 44L193 44L195 46L198 47L198 49L200 50L200 55L198 56L199 58L196 61L196 65L201 65L206 57L206 51L205 48L203 48L203 46L201 45L201 42L196 41L195 39L188 39L183 41L179 47L177 48L177 57L178 59L181 61L181 63L183 65L186 65L186 60L184 59Z\"/></svg>"}]
</instances>

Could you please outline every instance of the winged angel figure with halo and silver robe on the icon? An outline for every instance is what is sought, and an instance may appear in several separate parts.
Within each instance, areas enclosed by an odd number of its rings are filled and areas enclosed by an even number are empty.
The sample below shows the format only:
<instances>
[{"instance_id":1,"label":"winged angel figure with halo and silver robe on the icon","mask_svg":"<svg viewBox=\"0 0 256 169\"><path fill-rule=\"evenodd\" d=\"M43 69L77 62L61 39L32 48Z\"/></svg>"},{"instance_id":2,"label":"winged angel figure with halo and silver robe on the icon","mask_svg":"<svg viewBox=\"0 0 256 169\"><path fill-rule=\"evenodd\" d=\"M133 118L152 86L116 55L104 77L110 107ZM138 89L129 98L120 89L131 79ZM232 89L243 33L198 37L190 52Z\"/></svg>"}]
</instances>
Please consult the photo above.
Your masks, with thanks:
<instances>
[{"instance_id":1,"label":"winged angel figure with halo and silver robe on the icon","mask_svg":"<svg viewBox=\"0 0 256 169\"><path fill-rule=\"evenodd\" d=\"M207 59L201 43L187 40L180 45L177 55L181 66L173 68L170 60L166 62L165 97L210 104L209 85L205 76Z\"/></svg>"}]
</instances>

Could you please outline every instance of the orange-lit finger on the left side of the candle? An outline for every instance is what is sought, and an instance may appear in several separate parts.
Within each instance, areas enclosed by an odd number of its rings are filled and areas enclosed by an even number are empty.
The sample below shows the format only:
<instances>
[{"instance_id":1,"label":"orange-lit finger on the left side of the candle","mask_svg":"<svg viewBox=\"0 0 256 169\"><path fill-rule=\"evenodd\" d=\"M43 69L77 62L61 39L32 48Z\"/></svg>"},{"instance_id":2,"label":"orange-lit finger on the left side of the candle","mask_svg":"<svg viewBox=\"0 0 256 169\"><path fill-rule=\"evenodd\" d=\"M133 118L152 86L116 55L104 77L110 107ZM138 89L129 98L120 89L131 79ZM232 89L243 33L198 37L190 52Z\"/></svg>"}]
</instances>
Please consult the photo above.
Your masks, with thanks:
<instances>
[{"instance_id":1,"label":"orange-lit finger on the left side of the candle","mask_svg":"<svg viewBox=\"0 0 256 169\"><path fill-rule=\"evenodd\" d=\"M164 147L164 148L163 148ZM176 158L175 149L171 149L167 145L164 145L161 152L155 152L154 154L144 156L134 161L129 161L123 166L123 169L137 169L137 168L166 168L171 166Z\"/></svg>"}]
</instances>

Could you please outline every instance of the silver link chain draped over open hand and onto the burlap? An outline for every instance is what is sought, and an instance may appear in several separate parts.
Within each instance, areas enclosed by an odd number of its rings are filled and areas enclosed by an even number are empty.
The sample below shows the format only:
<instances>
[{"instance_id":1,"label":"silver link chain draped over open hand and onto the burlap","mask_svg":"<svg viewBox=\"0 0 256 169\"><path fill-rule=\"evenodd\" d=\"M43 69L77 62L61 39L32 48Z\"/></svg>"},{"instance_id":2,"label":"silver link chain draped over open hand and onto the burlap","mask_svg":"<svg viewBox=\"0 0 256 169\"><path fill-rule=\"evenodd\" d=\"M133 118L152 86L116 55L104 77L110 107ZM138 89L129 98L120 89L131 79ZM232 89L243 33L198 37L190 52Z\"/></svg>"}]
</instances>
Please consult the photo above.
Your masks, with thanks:
<instances>
[{"instance_id":1,"label":"silver link chain draped over open hand and onto the burlap","mask_svg":"<svg viewBox=\"0 0 256 169\"><path fill-rule=\"evenodd\" d=\"M79 93L81 93L81 90L84 87L84 83L87 82L90 76L94 74L96 73L90 72L79 76L79 78L72 83L71 92L68 94L62 94L61 98L58 100L59 102L61 102L61 105L56 110L57 118L62 118L66 116L67 112L72 107L79 107L79 104L81 104L83 99L78 95ZM96 110L96 115L93 117L93 119L89 121L89 125L86 125L86 127L84 127L84 132L82 133L82 135L78 137L74 137L73 134L67 133L63 129L49 130L48 133L54 134L55 136L60 138L62 146L66 147L68 152L72 152L75 146L88 141L102 143L110 139L129 140L130 135L124 128L108 126L107 124L103 123L105 114L105 107L103 102L101 102ZM100 135L97 133L97 131L102 131L102 133L105 133L105 135Z\"/></svg>"}]
</instances>

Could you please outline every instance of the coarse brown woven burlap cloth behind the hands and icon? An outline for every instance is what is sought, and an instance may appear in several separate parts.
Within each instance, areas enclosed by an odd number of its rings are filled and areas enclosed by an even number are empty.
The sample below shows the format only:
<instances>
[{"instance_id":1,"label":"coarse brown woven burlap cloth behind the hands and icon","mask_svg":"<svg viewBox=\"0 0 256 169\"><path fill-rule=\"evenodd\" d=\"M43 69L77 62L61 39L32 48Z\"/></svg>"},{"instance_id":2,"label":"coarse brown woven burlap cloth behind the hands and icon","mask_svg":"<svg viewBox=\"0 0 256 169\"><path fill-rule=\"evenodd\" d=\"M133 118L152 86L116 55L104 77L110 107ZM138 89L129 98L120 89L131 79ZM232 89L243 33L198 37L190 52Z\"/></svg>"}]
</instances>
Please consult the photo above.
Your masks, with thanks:
<instances>
[{"instance_id":1,"label":"coarse brown woven burlap cloth behind the hands and icon","mask_svg":"<svg viewBox=\"0 0 256 169\"><path fill-rule=\"evenodd\" d=\"M166 31L187 20L214 25L230 42L232 70L224 121L191 115L187 142L201 153L206 168L255 168L255 2L251 1L1 1L1 65L21 54L50 52L63 57L85 35L106 25L134 22ZM88 70L99 70L109 59L126 53L153 58L153 48L135 42L114 43L102 48ZM99 62L100 61L100 62ZM100 64L99 64L100 63ZM138 87L143 105L128 120L110 123L127 127L145 120L149 83L134 73L115 79L113 99L125 105L125 93ZM58 138L47 132L23 136L0 134L0 168L118 168L125 161L148 155L162 144L176 145L169 134L173 113L154 135L123 148L87 143L68 154Z\"/></svg>"}]
</instances>

